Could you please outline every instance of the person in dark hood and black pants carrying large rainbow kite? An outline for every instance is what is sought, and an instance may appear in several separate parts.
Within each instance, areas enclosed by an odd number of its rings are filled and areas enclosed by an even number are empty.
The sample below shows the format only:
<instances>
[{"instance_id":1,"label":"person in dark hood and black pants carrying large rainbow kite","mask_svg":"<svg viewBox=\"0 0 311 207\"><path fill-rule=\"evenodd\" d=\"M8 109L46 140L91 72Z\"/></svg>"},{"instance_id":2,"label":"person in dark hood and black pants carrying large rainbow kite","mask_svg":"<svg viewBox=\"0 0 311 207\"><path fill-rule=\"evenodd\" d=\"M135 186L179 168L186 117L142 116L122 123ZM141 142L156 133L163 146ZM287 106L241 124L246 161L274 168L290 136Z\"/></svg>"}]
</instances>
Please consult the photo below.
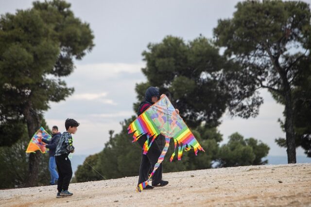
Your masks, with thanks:
<instances>
[{"instance_id":1,"label":"person in dark hood and black pants carrying large rainbow kite","mask_svg":"<svg viewBox=\"0 0 311 207\"><path fill-rule=\"evenodd\" d=\"M152 104L157 102L159 98L160 98L159 90L155 87L149 87L145 92L144 101L141 102L138 107L137 115L139 116L140 114L142 114L147 108L149 108ZM176 112L179 113L179 110L176 109ZM147 138L146 135L143 135L143 137L138 139L138 143L141 147L143 146L146 138ZM151 145L147 155L144 154L141 155L138 185L148 180L148 175L150 171L151 172L153 171L155 163L157 162L159 156L161 155L162 150L163 150L163 136L159 135L155 139L154 143ZM152 186L147 185L145 190L151 190L154 189L154 187L158 186L163 187L166 186L167 184L169 184L168 181L162 180L162 163L161 163L152 177Z\"/></svg>"}]
</instances>

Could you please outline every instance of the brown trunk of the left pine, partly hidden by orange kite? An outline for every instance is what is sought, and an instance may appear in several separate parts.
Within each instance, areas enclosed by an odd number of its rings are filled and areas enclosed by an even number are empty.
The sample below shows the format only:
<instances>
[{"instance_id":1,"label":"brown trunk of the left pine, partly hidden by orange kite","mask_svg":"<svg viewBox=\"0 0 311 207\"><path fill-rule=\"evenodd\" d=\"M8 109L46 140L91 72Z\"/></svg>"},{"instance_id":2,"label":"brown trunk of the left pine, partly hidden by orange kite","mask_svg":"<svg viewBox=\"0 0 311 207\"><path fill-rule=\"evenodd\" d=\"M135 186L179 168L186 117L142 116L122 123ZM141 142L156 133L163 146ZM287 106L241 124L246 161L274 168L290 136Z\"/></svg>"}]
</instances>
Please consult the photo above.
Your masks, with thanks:
<instances>
[{"instance_id":1,"label":"brown trunk of the left pine, partly hidden by orange kite","mask_svg":"<svg viewBox=\"0 0 311 207\"><path fill-rule=\"evenodd\" d=\"M31 108L31 104L27 104L27 106L23 110L24 118L27 122L28 136L31 139L35 134L36 130L40 127L39 116ZM28 177L25 182L25 187L34 187L37 184L37 178L39 173L39 153L30 153L29 155L29 172Z\"/></svg>"}]
</instances>

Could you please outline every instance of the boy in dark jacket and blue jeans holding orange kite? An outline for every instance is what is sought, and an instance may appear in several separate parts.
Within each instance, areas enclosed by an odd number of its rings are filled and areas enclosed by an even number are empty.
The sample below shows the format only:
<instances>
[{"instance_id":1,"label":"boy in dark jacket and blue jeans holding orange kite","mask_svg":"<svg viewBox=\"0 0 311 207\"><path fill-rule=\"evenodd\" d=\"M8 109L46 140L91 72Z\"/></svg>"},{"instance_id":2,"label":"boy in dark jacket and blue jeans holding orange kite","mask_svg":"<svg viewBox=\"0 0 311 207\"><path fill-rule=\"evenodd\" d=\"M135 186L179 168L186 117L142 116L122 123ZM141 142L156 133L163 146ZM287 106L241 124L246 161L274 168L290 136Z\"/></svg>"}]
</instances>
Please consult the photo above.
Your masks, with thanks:
<instances>
[{"instance_id":1,"label":"boy in dark jacket and blue jeans holding orange kite","mask_svg":"<svg viewBox=\"0 0 311 207\"><path fill-rule=\"evenodd\" d=\"M55 163L55 150L56 150L56 146L58 143L58 140L61 136L61 133L58 132L58 127L57 126L53 126L52 127L52 138L51 140L46 140L46 139L42 139L42 141L44 143L47 143L47 145L45 145L46 148L50 149L49 150L49 155L50 155L50 159L49 159L49 171L51 174L51 181L50 181L50 185L56 185L56 180L58 180L58 173L56 171L56 163Z\"/></svg>"}]
</instances>

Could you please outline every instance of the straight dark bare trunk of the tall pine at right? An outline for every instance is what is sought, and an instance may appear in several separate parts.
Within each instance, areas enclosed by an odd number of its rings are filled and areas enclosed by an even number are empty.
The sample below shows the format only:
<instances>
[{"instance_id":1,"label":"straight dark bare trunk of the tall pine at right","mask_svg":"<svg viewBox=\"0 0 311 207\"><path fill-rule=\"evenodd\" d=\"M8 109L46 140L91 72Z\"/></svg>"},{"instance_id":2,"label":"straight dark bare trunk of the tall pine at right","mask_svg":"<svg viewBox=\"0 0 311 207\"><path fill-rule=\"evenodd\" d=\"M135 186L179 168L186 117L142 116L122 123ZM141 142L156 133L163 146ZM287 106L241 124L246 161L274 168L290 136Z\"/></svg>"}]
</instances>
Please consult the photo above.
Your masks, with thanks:
<instances>
[{"instance_id":1,"label":"straight dark bare trunk of the tall pine at right","mask_svg":"<svg viewBox=\"0 0 311 207\"><path fill-rule=\"evenodd\" d=\"M294 107L290 90L285 91L285 132L287 162L296 163L296 143L294 135Z\"/></svg>"}]
</instances>

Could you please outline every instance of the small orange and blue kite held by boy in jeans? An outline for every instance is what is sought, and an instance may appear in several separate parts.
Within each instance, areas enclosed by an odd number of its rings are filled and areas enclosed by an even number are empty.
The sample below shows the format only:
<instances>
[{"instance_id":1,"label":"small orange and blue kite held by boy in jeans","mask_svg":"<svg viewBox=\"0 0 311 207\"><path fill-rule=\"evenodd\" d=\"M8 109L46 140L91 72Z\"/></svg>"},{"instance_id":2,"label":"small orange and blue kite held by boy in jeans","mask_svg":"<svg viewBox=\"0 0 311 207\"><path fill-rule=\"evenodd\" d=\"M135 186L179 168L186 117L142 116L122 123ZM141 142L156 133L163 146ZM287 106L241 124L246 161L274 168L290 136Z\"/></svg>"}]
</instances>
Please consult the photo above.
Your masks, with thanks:
<instances>
[{"instance_id":1,"label":"small orange and blue kite held by boy in jeans","mask_svg":"<svg viewBox=\"0 0 311 207\"><path fill-rule=\"evenodd\" d=\"M47 153L49 149L45 147L46 143L41 141L42 138L51 140L52 136L41 126L31 138L26 153L34 153L37 150L40 150L41 153Z\"/></svg>"}]
</instances>

